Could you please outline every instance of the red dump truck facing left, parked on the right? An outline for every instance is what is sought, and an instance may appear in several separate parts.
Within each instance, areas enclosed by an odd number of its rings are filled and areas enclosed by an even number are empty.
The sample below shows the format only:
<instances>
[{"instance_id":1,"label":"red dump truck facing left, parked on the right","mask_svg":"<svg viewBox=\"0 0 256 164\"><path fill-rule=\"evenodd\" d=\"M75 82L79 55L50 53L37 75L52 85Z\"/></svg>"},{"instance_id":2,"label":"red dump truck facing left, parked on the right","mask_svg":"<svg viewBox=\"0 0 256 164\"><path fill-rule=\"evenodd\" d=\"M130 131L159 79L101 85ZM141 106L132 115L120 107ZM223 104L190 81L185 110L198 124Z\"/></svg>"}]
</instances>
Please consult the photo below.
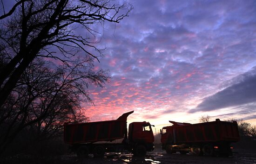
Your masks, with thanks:
<instances>
[{"instance_id":1,"label":"red dump truck facing left, parked on the right","mask_svg":"<svg viewBox=\"0 0 256 164\"><path fill-rule=\"evenodd\" d=\"M198 124L169 122L173 126L160 130L162 149L167 153L190 151L197 155L231 156L233 147L230 143L239 141L236 121L216 119Z\"/></svg>"}]
</instances>

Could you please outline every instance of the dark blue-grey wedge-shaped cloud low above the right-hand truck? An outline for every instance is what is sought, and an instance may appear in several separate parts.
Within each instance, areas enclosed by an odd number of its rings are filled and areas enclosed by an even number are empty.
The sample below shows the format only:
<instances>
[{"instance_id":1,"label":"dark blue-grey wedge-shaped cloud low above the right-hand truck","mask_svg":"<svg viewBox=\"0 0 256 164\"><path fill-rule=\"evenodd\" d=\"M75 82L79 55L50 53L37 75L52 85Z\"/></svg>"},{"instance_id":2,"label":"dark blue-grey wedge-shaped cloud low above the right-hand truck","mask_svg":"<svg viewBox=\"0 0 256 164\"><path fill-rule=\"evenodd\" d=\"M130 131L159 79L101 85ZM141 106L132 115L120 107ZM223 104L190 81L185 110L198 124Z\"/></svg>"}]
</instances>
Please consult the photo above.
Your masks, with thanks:
<instances>
[{"instance_id":1,"label":"dark blue-grey wedge-shaped cloud low above the right-hand truck","mask_svg":"<svg viewBox=\"0 0 256 164\"><path fill-rule=\"evenodd\" d=\"M256 102L256 67L239 76L239 78L240 82L236 82L222 91L205 98L190 112L211 111Z\"/></svg>"}]
</instances>

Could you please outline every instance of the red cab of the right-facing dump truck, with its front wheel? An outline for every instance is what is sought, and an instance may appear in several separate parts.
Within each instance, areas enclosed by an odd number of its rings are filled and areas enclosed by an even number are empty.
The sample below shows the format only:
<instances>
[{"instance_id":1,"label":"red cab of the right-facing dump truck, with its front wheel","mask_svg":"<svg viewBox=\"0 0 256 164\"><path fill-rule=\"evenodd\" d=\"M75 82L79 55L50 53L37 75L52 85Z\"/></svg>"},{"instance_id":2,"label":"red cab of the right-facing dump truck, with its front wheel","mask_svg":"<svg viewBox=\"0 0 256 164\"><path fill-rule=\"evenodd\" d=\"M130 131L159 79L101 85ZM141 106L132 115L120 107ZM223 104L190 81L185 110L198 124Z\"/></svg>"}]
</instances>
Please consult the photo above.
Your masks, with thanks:
<instances>
[{"instance_id":1,"label":"red cab of the right-facing dump truck, with its front wheel","mask_svg":"<svg viewBox=\"0 0 256 164\"><path fill-rule=\"evenodd\" d=\"M149 122L132 122L129 124L128 140L132 145L132 153L143 156L154 150L154 134Z\"/></svg>"}]
</instances>

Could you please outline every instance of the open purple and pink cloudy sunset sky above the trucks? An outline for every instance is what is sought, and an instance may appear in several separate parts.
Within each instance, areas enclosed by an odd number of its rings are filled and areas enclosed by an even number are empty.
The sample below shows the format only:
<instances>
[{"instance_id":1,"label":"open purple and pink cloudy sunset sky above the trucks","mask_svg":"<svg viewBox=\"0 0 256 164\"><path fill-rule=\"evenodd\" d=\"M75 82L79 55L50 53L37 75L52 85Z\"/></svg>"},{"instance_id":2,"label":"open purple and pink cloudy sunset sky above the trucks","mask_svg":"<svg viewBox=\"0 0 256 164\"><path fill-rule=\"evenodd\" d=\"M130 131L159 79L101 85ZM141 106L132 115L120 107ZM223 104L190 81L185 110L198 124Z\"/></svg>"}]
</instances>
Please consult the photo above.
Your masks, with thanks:
<instances>
[{"instance_id":1,"label":"open purple and pink cloudy sunset sky above the trucks","mask_svg":"<svg viewBox=\"0 0 256 164\"><path fill-rule=\"evenodd\" d=\"M243 119L256 125L255 0L129 0L119 24L105 23L105 88L90 88L90 121L134 110L157 129L168 120Z\"/></svg>"}]
</instances>

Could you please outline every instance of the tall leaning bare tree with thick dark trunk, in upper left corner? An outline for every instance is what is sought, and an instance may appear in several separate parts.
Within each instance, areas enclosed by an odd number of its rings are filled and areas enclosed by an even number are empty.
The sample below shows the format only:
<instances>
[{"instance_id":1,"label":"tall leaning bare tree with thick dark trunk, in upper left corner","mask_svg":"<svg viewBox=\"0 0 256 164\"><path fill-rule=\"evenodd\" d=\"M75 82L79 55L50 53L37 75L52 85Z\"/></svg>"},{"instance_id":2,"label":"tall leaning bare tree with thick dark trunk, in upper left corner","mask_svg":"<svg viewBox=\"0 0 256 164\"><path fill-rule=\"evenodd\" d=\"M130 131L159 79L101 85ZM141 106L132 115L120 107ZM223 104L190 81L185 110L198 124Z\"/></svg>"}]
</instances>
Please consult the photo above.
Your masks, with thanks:
<instances>
[{"instance_id":1,"label":"tall leaning bare tree with thick dark trunk, in upper left corner","mask_svg":"<svg viewBox=\"0 0 256 164\"><path fill-rule=\"evenodd\" d=\"M0 107L35 57L58 59L69 66L79 50L96 59L102 56L93 25L119 23L132 8L112 0L16 0L0 16L0 44L7 61L0 70Z\"/></svg>"}]
</instances>

